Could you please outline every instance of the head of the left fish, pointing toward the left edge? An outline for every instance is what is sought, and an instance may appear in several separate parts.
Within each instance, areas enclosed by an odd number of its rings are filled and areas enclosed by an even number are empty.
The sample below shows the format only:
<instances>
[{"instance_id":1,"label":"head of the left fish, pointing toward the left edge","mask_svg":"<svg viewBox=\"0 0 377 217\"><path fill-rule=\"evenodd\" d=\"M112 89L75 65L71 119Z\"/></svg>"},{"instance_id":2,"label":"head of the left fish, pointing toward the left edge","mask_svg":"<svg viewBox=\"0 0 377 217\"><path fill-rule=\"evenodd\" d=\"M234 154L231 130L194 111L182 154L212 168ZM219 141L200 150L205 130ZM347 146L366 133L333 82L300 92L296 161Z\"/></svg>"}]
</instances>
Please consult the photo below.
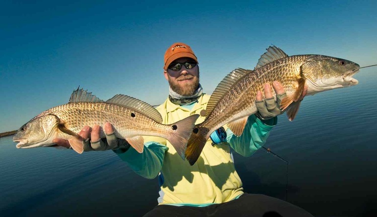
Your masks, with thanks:
<instances>
[{"instance_id":1,"label":"head of the left fish, pointing toward the left edge","mask_svg":"<svg viewBox=\"0 0 377 217\"><path fill-rule=\"evenodd\" d=\"M59 118L55 115L39 115L25 123L13 136L17 148L44 147L53 145Z\"/></svg>"}]
</instances>

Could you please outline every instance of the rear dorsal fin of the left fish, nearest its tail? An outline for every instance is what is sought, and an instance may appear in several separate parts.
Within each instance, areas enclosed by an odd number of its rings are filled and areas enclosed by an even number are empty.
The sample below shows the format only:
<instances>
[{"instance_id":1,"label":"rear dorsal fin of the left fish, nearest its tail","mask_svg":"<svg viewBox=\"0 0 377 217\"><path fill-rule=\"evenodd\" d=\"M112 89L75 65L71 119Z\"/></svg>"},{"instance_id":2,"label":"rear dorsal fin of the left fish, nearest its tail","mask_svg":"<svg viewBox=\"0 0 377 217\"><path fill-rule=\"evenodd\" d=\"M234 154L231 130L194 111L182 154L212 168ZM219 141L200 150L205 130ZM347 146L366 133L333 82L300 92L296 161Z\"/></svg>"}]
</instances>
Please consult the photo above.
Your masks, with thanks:
<instances>
[{"instance_id":1,"label":"rear dorsal fin of the left fish, nearest its tail","mask_svg":"<svg viewBox=\"0 0 377 217\"><path fill-rule=\"evenodd\" d=\"M107 100L106 102L117 104L132 109L134 111L140 112L141 114L148 116L149 118L159 123L163 121L163 118L161 117L161 114L157 111L157 109L155 109L148 103L141 101L140 99L134 98L132 96L117 94L113 96L113 98Z\"/></svg>"}]
</instances>

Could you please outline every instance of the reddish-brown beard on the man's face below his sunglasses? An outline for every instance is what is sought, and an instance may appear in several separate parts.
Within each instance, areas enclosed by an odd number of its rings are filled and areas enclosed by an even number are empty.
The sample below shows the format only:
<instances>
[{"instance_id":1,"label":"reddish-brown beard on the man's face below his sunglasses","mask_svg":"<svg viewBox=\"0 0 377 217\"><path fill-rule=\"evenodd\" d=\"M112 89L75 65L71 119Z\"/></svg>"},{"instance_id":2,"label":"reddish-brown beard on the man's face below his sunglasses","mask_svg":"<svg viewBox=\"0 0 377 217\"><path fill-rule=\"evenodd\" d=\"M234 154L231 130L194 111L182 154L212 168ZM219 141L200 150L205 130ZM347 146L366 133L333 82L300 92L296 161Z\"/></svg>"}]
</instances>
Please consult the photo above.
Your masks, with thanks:
<instances>
[{"instance_id":1,"label":"reddish-brown beard on the man's face below his sunglasses","mask_svg":"<svg viewBox=\"0 0 377 217\"><path fill-rule=\"evenodd\" d=\"M170 77L168 76L168 82L171 87L171 89L182 96L191 96L195 93L195 91L199 87L199 72L198 76L192 76L192 75L181 75L177 78L177 80L183 80L183 79L190 79L192 78L192 82L184 83L184 84L178 84L178 82L173 81Z\"/></svg>"}]
</instances>

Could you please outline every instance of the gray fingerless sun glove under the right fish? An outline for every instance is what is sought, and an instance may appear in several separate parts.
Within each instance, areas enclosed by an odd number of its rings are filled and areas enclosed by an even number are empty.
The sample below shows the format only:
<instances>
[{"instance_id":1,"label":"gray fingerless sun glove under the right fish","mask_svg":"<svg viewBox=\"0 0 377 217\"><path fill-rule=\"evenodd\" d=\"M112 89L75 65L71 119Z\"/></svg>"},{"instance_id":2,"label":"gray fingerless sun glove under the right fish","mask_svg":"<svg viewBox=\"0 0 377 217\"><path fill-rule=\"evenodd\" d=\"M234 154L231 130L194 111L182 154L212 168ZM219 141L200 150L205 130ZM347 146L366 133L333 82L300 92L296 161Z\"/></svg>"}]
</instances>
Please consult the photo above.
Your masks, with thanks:
<instances>
[{"instance_id":1,"label":"gray fingerless sun glove under the right fish","mask_svg":"<svg viewBox=\"0 0 377 217\"><path fill-rule=\"evenodd\" d=\"M283 114L285 110L282 111L282 109L280 109L280 103L282 102L285 96L285 93L277 94L276 101L274 97L266 98L261 101L255 101L255 104L258 109L255 116L257 116L260 120L268 120Z\"/></svg>"}]
</instances>

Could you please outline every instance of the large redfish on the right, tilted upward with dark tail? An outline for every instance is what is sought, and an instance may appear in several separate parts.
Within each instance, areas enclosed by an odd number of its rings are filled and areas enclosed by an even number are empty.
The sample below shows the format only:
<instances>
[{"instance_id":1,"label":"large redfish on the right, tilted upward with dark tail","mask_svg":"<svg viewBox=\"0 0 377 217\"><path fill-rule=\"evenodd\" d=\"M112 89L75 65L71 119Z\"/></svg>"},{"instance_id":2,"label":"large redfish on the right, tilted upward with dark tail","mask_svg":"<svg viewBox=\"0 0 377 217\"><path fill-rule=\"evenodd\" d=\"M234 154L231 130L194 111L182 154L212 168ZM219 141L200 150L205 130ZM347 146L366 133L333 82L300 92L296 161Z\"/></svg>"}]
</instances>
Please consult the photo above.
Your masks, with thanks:
<instances>
[{"instance_id":1,"label":"large redfish on the right, tilted upward with dark tail","mask_svg":"<svg viewBox=\"0 0 377 217\"><path fill-rule=\"evenodd\" d=\"M208 102L205 121L196 125L188 140L186 158L193 165L212 132L224 124L240 136L248 117L257 112L257 92L263 90L265 83L276 80L283 85L286 97L281 108L292 121L305 85L307 95L353 86L358 81L352 76L359 69L358 64L344 59L323 55L288 56L275 46L267 48L254 70L236 69L218 84ZM271 92L276 100L275 91Z\"/></svg>"}]
</instances>

